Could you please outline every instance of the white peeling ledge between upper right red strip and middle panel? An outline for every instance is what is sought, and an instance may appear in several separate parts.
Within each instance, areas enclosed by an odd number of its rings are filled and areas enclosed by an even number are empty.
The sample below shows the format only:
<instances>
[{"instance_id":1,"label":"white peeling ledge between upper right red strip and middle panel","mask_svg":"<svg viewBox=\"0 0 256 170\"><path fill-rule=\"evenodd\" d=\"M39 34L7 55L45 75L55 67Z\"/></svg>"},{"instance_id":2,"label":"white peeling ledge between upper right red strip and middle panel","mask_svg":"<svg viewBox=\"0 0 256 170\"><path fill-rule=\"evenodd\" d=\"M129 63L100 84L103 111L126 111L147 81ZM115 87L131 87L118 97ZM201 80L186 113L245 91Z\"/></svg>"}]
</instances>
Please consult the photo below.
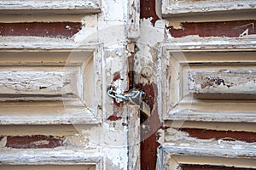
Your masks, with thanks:
<instances>
[{"instance_id":1,"label":"white peeling ledge between upper right red strip and middle panel","mask_svg":"<svg viewBox=\"0 0 256 170\"><path fill-rule=\"evenodd\" d=\"M183 37L168 38L162 43L165 51L253 51L256 48L256 40L251 37Z\"/></svg>"}]
</instances>

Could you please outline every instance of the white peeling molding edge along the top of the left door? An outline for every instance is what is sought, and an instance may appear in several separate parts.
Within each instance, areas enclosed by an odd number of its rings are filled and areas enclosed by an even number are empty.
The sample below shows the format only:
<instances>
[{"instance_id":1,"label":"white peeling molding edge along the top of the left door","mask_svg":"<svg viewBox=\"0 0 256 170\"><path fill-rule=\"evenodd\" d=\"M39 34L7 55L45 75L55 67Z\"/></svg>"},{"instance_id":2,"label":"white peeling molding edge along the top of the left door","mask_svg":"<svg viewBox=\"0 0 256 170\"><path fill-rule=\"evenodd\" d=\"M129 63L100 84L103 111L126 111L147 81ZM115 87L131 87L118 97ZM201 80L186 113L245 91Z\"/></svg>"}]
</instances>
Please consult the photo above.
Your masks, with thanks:
<instances>
[{"instance_id":1,"label":"white peeling molding edge along the top of the left door","mask_svg":"<svg viewBox=\"0 0 256 170\"><path fill-rule=\"evenodd\" d=\"M100 13L96 1L4 1L0 2L0 14L91 14Z\"/></svg>"}]
</instances>

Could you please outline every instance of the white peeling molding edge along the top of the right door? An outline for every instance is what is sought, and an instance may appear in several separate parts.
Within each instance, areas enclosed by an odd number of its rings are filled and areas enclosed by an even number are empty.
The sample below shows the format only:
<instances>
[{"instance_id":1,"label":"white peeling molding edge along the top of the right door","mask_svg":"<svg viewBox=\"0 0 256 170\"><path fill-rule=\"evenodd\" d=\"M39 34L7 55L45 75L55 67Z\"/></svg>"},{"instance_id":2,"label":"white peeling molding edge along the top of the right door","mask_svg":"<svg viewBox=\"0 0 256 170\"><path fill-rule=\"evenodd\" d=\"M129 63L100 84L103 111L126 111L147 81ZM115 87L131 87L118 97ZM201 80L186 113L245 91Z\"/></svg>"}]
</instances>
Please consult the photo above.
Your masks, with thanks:
<instances>
[{"instance_id":1,"label":"white peeling molding edge along the top of the right door","mask_svg":"<svg viewBox=\"0 0 256 170\"><path fill-rule=\"evenodd\" d=\"M207 5L206 5L207 4ZM252 11L256 8L254 0L236 1L224 0L224 1L170 1L164 0L162 5L162 15L164 17L177 17L191 14L212 14L212 13L237 13Z\"/></svg>"}]
</instances>

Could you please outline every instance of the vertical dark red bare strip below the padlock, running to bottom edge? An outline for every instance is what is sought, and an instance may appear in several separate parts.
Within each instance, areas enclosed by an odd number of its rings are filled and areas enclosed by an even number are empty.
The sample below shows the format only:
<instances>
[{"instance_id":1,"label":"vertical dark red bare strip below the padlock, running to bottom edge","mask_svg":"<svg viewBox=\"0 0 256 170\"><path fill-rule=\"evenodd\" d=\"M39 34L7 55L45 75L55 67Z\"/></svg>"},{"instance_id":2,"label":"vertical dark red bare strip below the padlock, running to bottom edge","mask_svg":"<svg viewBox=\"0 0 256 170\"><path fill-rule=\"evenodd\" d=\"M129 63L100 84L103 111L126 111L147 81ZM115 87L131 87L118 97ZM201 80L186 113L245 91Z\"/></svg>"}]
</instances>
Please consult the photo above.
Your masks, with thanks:
<instances>
[{"instance_id":1,"label":"vertical dark red bare strip below the padlock, running to bottom edge","mask_svg":"<svg viewBox=\"0 0 256 170\"><path fill-rule=\"evenodd\" d=\"M141 169L154 170L157 160L157 148L160 144L158 129L161 127L160 118L157 112L157 87L154 83L138 84L137 89L145 92L144 102L146 102L151 110L151 116L147 117L140 114L141 118ZM146 127L143 128L142 124Z\"/></svg>"}]
</instances>

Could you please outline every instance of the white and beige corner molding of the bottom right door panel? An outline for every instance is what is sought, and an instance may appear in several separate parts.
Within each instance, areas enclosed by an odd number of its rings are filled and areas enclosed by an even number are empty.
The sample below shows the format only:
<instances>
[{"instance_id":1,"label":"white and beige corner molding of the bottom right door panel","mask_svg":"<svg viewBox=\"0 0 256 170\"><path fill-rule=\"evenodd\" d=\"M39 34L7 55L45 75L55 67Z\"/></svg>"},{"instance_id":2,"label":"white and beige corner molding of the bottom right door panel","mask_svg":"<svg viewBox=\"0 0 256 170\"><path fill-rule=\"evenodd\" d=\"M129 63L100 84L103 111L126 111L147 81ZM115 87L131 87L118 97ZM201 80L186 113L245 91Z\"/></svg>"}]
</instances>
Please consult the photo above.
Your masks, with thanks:
<instances>
[{"instance_id":1,"label":"white and beige corner molding of the bottom right door panel","mask_svg":"<svg viewBox=\"0 0 256 170\"><path fill-rule=\"evenodd\" d=\"M224 139L195 139L175 128L166 129L158 150L158 167L174 170L179 164L256 167L255 143ZM160 168L159 168L160 169Z\"/></svg>"}]
</instances>

